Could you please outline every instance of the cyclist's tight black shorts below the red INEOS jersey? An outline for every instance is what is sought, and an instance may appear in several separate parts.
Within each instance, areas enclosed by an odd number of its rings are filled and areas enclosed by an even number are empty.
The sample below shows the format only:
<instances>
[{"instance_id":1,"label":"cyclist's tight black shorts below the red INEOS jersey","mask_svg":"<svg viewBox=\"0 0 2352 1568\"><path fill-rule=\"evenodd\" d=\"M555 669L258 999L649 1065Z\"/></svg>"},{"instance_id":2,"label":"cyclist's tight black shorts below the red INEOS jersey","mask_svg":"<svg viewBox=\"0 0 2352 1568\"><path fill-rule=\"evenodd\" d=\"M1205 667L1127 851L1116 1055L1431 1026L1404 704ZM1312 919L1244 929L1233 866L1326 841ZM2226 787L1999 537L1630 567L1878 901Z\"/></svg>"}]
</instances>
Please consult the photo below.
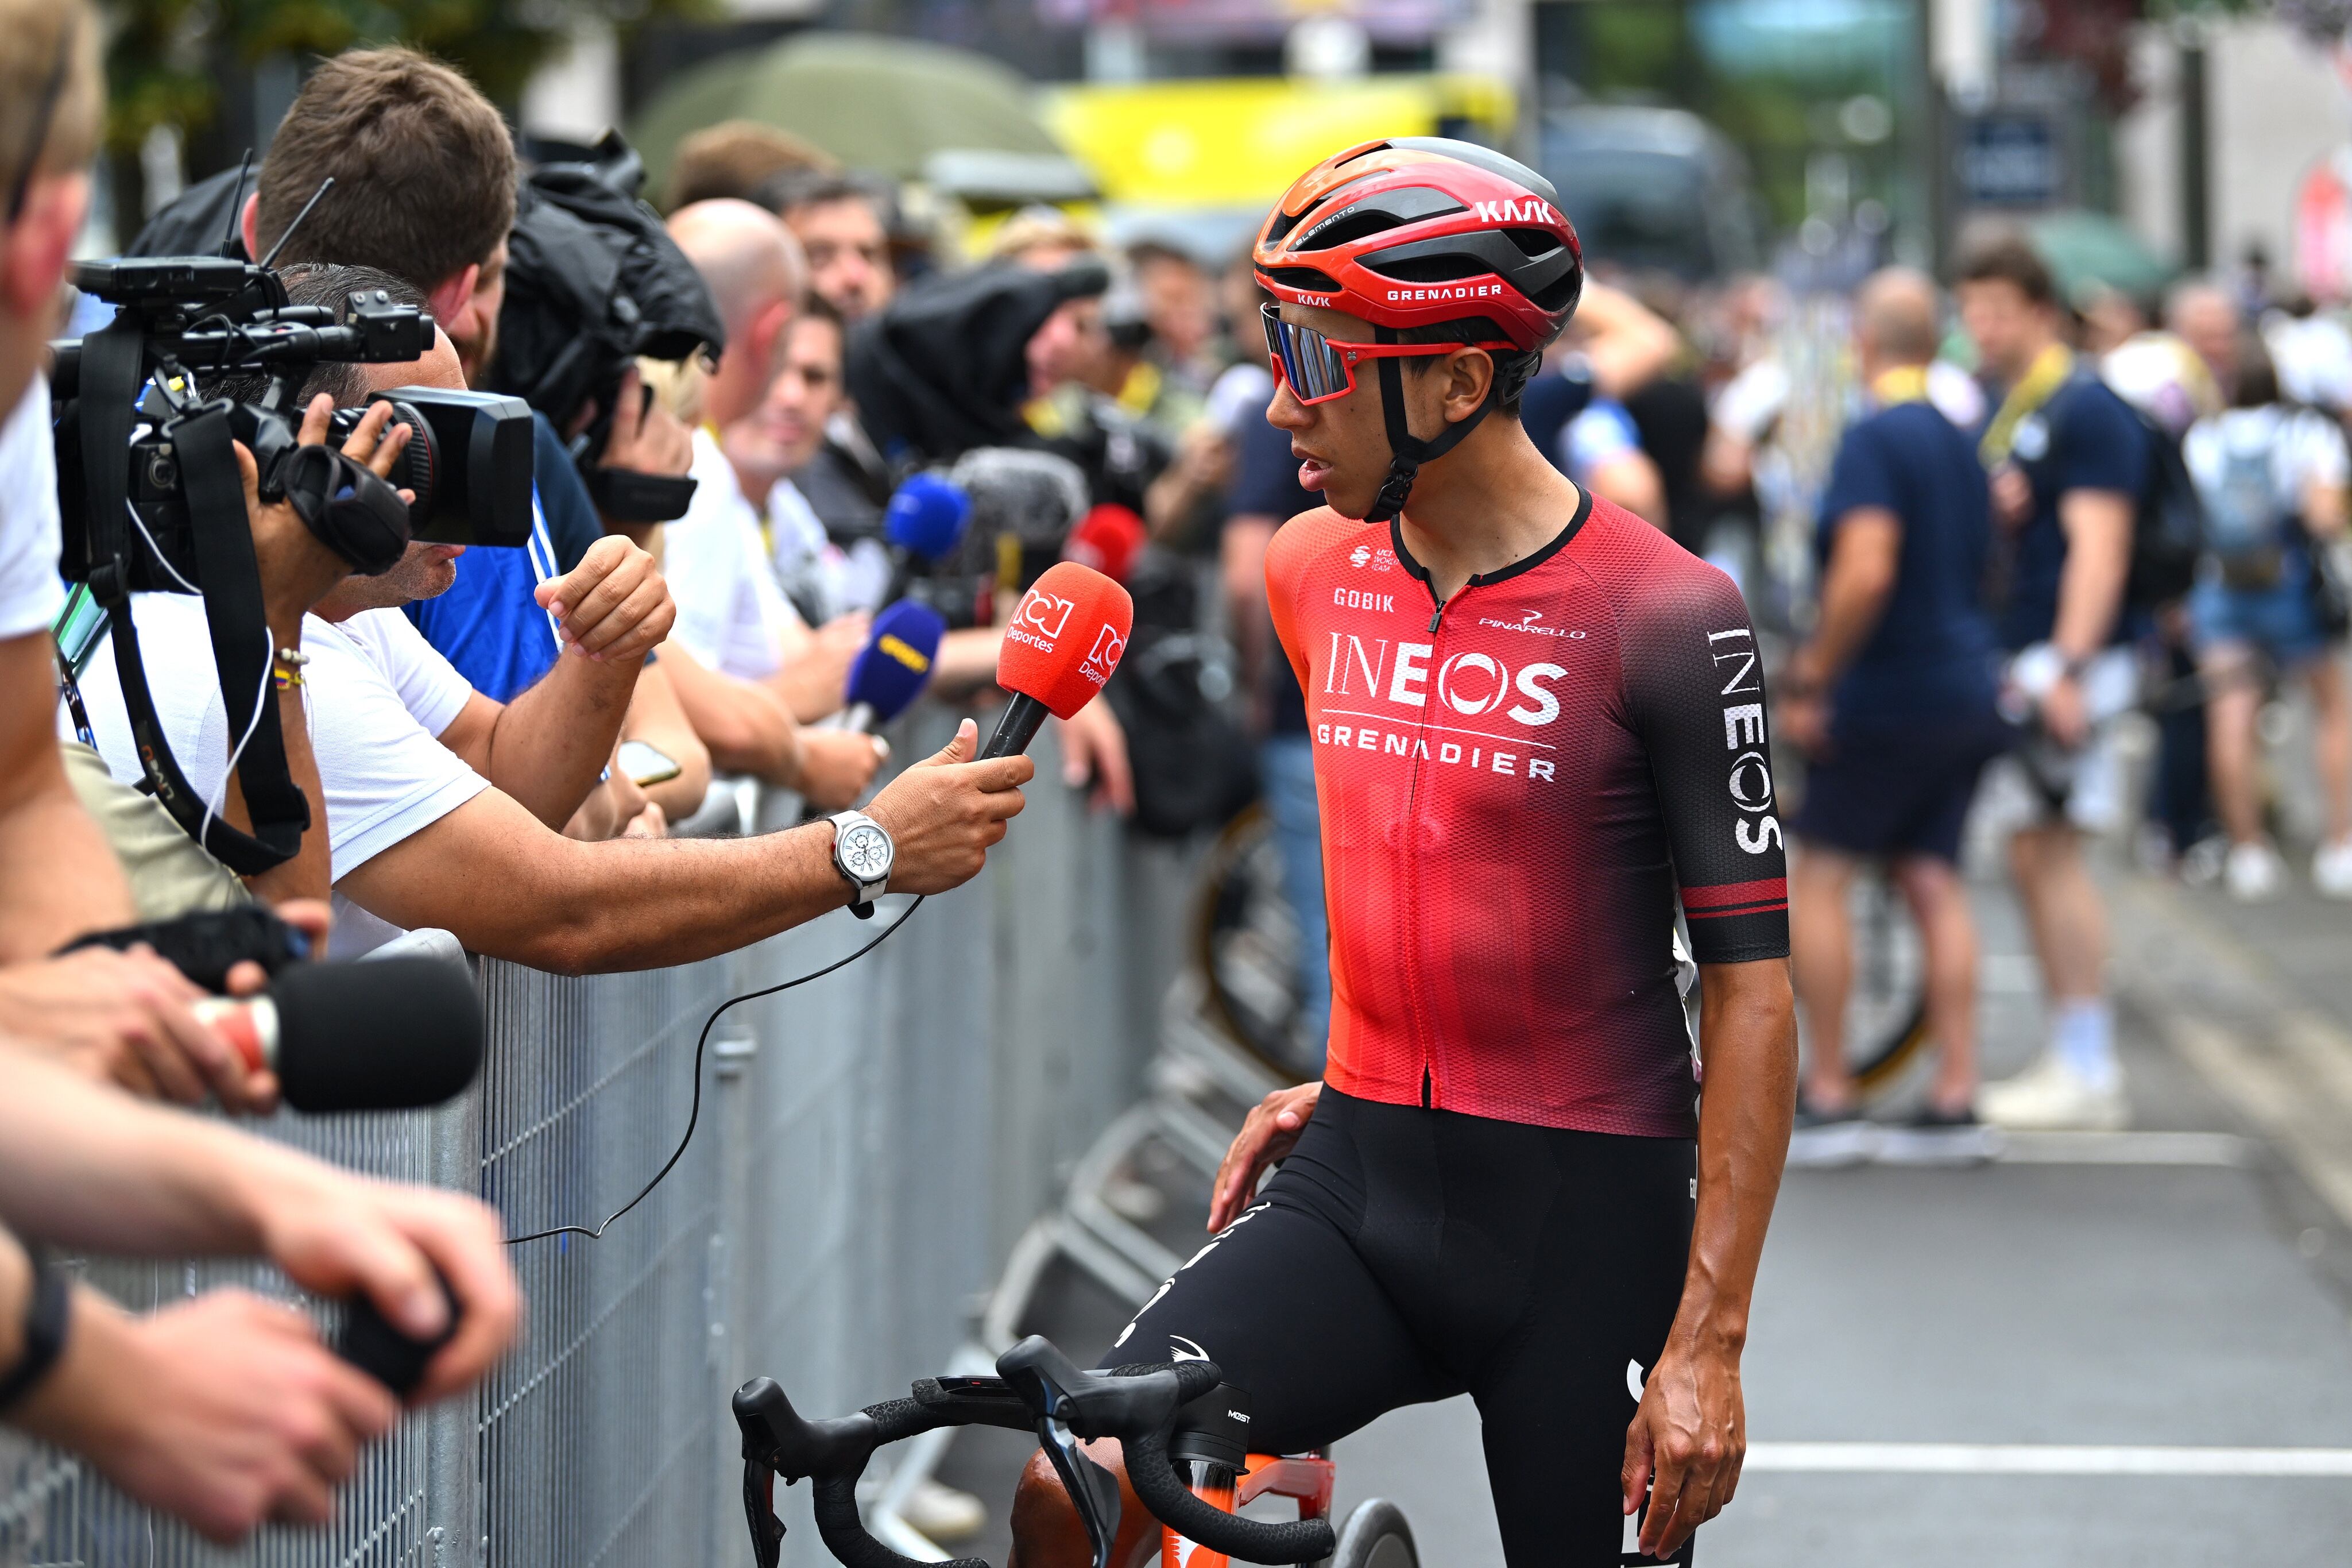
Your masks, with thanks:
<instances>
[{"instance_id":1,"label":"cyclist's tight black shorts below the red INEOS jersey","mask_svg":"<svg viewBox=\"0 0 2352 1568\"><path fill-rule=\"evenodd\" d=\"M1682 1305L1689 1138L1526 1126L1324 1088L1258 1201L1098 1366L1207 1354L1251 1448L1319 1448L1468 1392L1512 1568L1618 1563L1618 1467Z\"/></svg>"}]
</instances>

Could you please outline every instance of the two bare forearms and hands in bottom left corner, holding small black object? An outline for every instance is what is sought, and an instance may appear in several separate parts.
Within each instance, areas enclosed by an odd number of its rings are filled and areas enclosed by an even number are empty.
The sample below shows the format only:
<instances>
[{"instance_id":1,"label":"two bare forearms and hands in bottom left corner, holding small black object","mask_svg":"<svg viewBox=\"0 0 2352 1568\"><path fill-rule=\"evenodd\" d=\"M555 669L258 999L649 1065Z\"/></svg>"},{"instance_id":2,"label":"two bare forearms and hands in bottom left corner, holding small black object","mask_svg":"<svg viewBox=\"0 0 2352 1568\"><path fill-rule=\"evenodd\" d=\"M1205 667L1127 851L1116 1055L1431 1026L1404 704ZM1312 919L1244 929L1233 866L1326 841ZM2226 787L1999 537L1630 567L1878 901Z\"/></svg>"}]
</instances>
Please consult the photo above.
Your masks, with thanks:
<instances>
[{"instance_id":1,"label":"two bare forearms and hands in bottom left corner, holding small black object","mask_svg":"<svg viewBox=\"0 0 2352 1568\"><path fill-rule=\"evenodd\" d=\"M367 1295L416 1338L447 1326L437 1269L459 1319L419 1403L477 1382L520 1319L482 1204L136 1105L7 1041L0 1222L0 1385L12 1392L0 1420L223 1544L268 1521L329 1519L360 1448L397 1420L395 1396L294 1307L230 1288L136 1316L66 1284L28 1244L268 1258L318 1295Z\"/></svg>"}]
</instances>

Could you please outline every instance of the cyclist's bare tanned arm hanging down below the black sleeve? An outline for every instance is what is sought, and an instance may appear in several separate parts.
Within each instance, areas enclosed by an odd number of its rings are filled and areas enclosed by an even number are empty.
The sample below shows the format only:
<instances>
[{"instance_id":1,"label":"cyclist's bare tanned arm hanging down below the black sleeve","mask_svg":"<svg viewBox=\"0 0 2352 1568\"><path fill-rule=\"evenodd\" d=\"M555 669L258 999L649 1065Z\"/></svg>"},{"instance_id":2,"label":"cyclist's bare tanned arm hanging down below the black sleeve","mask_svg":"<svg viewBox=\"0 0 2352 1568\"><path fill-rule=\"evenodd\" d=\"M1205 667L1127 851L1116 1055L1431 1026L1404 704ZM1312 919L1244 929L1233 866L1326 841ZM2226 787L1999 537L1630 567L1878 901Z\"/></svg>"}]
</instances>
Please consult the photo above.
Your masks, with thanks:
<instances>
[{"instance_id":1,"label":"cyclist's bare tanned arm hanging down below the black sleeve","mask_svg":"<svg viewBox=\"0 0 2352 1568\"><path fill-rule=\"evenodd\" d=\"M1700 964L1698 1218L1682 1309L1625 1432L1625 1512L1642 1549L1672 1556L1731 1502L1748 1453L1740 1347L1764 1227L1797 1107L1797 1009L1785 959Z\"/></svg>"}]
</instances>

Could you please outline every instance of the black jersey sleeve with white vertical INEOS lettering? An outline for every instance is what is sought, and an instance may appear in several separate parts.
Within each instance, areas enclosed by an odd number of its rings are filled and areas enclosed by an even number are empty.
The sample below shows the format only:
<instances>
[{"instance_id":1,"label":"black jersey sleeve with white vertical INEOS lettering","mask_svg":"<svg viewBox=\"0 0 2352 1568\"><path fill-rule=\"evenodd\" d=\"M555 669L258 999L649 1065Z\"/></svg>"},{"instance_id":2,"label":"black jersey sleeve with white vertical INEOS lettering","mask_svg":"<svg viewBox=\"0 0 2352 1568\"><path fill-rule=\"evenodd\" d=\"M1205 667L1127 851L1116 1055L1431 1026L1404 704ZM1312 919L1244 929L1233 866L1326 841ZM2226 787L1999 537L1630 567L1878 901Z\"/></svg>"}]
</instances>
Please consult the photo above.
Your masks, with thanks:
<instances>
[{"instance_id":1,"label":"black jersey sleeve with white vertical INEOS lettering","mask_svg":"<svg viewBox=\"0 0 2352 1568\"><path fill-rule=\"evenodd\" d=\"M1679 552L1677 552L1679 555ZM1682 555L1623 611L1625 708L1649 755L1691 957L1788 957L1788 856L1764 661L1738 588Z\"/></svg>"}]
</instances>

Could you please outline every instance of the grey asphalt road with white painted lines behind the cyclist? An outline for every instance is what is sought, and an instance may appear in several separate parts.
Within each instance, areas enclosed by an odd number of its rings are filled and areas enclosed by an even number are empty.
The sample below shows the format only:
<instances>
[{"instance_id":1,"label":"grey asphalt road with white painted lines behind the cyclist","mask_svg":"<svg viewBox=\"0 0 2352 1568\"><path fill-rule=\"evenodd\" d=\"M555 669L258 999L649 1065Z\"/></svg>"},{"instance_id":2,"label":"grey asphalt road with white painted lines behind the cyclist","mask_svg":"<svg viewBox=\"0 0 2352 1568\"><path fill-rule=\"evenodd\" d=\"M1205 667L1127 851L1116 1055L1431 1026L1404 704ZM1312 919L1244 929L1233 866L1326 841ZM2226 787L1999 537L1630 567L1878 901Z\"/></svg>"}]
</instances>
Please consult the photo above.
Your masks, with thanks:
<instances>
[{"instance_id":1,"label":"grey asphalt road with white painted lines behind the cyclist","mask_svg":"<svg viewBox=\"0 0 2352 1568\"><path fill-rule=\"evenodd\" d=\"M2039 1039L1999 889L1985 1060ZM1752 1458L1710 1568L2352 1561L2352 910L2117 882L2133 1131L1971 1171L1790 1173L1745 1361ZM1181 1234L1197 1206L1171 1192ZM1197 1220L1190 1220L1197 1225ZM1091 1354L1124 1307L1061 1274L1033 1326ZM1004 1556L1021 1439L943 1479ZM1468 1401L1338 1446L1341 1507L1404 1505L1423 1561L1503 1561ZM2319 1474L2307 1474L2319 1472Z\"/></svg>"}]
</instances>

